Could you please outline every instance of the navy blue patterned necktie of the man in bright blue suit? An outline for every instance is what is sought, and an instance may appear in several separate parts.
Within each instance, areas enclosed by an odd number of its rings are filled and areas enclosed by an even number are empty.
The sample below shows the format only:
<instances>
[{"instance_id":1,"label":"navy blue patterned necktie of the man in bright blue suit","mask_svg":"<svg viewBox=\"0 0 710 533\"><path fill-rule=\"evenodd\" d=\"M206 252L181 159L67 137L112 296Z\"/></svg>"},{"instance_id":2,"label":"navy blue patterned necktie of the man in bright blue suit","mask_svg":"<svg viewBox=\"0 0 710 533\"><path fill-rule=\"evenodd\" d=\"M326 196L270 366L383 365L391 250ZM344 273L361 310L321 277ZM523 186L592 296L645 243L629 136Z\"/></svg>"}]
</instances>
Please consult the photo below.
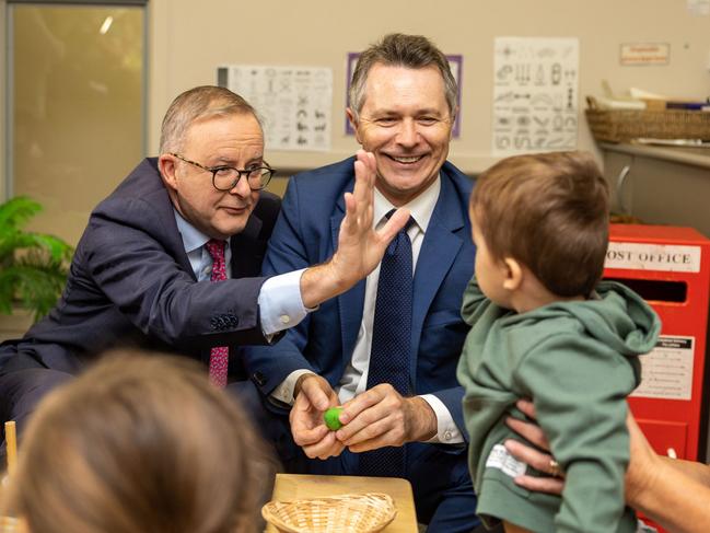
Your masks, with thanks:
<instances>
[{"instance_id":1,"label":"navy blue patterned necktie of the man in bright blue suit","mask_svg":"<svg viewBox=\"0 0 710 533\"><path fill-rule=\"evenodd\" d=\"M387 213L392 216L394 209ZM392 240L380 266L377 299L368 368L368 389L389 383L403 396L411 395L409 364L411 351L412 256L407 229ZM360 454L359 474L403 477L405 448L387 447Z\"/></svg>"}]
</instances>

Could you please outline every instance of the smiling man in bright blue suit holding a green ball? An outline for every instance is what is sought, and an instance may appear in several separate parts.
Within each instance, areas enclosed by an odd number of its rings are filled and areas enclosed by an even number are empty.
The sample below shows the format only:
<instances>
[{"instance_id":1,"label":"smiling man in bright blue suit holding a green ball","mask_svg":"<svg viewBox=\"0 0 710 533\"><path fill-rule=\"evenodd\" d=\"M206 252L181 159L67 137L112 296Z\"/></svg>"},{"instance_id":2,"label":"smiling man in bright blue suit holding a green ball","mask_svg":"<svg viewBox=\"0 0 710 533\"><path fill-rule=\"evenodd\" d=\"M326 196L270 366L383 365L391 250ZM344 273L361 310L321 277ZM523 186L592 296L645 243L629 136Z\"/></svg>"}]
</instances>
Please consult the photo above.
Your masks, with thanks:
<instances>
[{"instance_id":1,"label":"smiling man in bright blue suit holding a green ball","mask_svg":"<svg viewBox=\"0 0 710 533\"><path fill-rule=\"evenodd\" d=\"M422 36L387 35L360 56L347 113L376 162L373 223L399 207L410 223L366 280L245 355L288 470L406 477L419 521L447 533L478 523L456 381L475 257L473 181L446 162L456 95L446 58ZM353 179L352 159L291 178L265 275L329 256ZM344 426L329 431L323 412L339 404Z\"/></svg>"}]
</instances>

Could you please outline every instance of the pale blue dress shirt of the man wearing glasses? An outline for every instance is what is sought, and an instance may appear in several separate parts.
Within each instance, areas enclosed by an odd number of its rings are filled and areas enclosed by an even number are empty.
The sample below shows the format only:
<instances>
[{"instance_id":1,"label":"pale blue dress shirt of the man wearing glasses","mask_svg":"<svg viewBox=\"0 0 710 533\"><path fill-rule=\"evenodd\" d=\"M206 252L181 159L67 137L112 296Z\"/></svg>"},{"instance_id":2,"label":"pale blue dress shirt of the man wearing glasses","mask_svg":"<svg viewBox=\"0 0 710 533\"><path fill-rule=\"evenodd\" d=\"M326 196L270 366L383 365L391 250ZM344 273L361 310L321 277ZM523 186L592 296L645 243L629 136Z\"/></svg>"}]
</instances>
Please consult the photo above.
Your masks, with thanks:
<instances>
[{"instance_id":1,"label":"pale blue dress shirt of the man wearing glasses","mask_svg":"<svg viewBox=\"0 0 710 533\"><path fill-rule=\"evenodd\" d=\"M177 210L173 209L173 212L195 277L198 281L210 279L212 256L205 247L210 237L185 220ZM232 277L231 260L232 248L228 240L224 246L228 278ZM303 270L305 269L273 276L261 286L258 298L259 318L261 321L261 331L267 338L281 329L295 326L311 311L303 306L303 299L301 298L301 275ZM235 298L238 298L238 296L235 296Z\"/></svg>"}]
</instances>

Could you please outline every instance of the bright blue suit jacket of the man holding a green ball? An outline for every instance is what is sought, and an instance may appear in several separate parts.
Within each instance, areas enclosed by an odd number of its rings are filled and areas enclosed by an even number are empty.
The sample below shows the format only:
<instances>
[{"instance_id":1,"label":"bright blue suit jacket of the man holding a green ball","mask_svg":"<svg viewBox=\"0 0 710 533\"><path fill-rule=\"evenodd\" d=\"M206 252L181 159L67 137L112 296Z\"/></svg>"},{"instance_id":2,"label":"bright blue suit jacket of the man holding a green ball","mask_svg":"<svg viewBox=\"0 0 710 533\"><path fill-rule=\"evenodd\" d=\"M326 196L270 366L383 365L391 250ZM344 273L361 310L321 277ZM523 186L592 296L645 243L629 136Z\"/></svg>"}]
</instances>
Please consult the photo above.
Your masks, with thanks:
<instances>
[{"instance_id":1,"label":"bright blue suit jacket of the man holding a green ball","mask_svg":"<svg viewBox=\"0 0 710 533\"><path fill-rule=\"evenodd\" d=\"M291 178L269 241L264 275L322 263L337 247L345 217L342 195L354 186L353 158ZM456 364L468 327L461 317L475 247L468 221L473 181L446 162L441 193L424 235L415 273L410 375L416 394L434 394L462 433L463 389ZM293 370L310 369L338 385L350 362L362 321L365 281L329 300L269 347L245 349L247 373L264 395Z\"/></svg>"}]
</instances>

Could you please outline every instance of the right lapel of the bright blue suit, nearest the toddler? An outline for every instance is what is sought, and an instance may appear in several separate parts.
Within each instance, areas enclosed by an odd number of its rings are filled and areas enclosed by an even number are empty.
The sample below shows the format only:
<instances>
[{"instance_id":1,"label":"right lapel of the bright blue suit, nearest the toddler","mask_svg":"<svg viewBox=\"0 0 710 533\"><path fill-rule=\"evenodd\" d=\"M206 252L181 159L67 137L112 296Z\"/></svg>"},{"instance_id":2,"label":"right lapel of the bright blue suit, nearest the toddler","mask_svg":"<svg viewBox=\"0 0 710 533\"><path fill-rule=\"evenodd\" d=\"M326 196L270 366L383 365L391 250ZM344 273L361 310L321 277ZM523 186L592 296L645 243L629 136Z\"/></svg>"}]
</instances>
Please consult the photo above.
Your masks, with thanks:
<instances>
[{"instance_id":1,"label":"right lapel of the bright blue suit, nearest the toddler","mask_svg":"<svg viewBox=\"0 0 710 533\"><path fill-rule=\"evenodd\" d=\"M417 375L417 354L424 318L441 283L464 241L456 233L464 228L464 215L450 178L442 170L441 190L419 251L415 271L411 317L411 375Z\"/></svg>"}]
</instances>

